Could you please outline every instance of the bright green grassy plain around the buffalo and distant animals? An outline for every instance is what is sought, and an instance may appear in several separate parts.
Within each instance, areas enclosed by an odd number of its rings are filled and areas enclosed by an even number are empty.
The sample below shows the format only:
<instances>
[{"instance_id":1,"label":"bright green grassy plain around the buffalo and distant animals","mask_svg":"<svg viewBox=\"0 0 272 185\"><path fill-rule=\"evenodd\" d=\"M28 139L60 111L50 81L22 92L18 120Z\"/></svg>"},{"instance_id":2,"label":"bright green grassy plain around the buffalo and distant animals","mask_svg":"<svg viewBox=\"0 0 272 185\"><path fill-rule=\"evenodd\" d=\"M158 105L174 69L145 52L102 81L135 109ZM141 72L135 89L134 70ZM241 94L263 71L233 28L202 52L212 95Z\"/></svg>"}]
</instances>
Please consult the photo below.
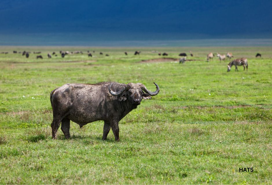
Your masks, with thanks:
<instances>
[{"instance_id":1,"label":"bright green grassy plain around the buffalo and distant animals","mask_svg":"<svg viewBox=\"0 0 272 185\"><path fill-rule=\"evenodd\" d=\"M44 59L12 51L42 51ZM61 58L59 50L81 50ZM93 57L87 56L93 51ZM135 50L141 51L134 56ZM141 62L191 50L185 64ZM272 48L0 47L0 184L272 184ZM47 59L47 52L58 56ZM104 53L103 56L99 52ZM128 56L124 55L128 52ZM209 52L246 57L227 73ZM255 58L256 53L262 58ZM105 54L109 54L106 57ZM102 141L102 121L52 140L50 92L65 83L143 83L143 100ZM239 172L251 168L253 172Z\"/></svg>"}]
</instances>

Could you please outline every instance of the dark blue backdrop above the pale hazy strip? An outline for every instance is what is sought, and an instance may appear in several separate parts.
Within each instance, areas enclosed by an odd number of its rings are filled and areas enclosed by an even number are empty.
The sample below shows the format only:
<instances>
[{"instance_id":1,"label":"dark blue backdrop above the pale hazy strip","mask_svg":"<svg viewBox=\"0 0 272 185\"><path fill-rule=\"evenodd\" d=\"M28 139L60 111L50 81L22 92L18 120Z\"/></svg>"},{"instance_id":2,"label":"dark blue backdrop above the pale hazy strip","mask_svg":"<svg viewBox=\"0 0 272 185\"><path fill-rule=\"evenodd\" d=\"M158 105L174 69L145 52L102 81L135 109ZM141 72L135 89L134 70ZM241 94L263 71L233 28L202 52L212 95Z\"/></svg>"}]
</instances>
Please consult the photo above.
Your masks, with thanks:
<instances>
[{"instance_id":1,"label":"dark blue backdrop above the pale hazy strip","mask_svg":"<svg viewBox=\"0 0 272 185\"><path fill-rule=\"evenodd\" d=\"M272 38L271 0L1 0L1 36Z\"/></svg>"}]
</instances>

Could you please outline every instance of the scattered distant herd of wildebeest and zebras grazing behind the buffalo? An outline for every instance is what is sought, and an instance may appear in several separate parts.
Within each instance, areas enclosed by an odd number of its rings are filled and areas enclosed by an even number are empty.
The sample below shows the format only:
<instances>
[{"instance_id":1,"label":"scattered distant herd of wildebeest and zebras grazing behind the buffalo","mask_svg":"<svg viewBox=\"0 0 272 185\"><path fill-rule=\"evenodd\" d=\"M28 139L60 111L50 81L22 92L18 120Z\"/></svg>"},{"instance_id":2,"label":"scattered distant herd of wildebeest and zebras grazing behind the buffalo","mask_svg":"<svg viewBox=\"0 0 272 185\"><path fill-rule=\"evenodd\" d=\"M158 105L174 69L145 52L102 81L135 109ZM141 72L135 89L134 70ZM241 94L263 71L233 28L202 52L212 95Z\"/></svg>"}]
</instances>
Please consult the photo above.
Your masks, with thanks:
<instances>
[{"instance_id":1,"label":"scattered distant herd of wildebeest and zebras grazing behind the buffalo","mask_svg":"<svg viewBox=\"0 0 272 185\"><path fill-rule=\"evenodd\" d=\"M25 56L26 58L29 58L30 56L30 51L13 51L13 53L22 53L23 56ZM40 54L41 51L38 51L38 52L33 52L34 54ZM64 58L66 55L68 54L84 54L82 51L59 51L60 55L62 58ZM93 51L93 53L95 53L95 51ZM141 51L135 51L134 52L134 55L140 55ZM158 52L158 51L152 51L152 53L158 53L159 56L168 56L168 53L166 52ZM8 52L1 52L0 54L8 54ZM100 55L103 55L102 52L99 53ZM128 52L124 52L124 54L127 56L128 55ZM88 57L92 57L92 53L90 51L87 51L87 55ZM52 58L52 56L58 56L56 54L56 52L53 52L52 54L51 53L47 53L47 57L48 58ZM109 56L109 54L106 54L105 56ZM183 56L183 58L180 58L179 59L179 63L185 63L186 61L186 57L187 57L187 54L186 53L180 53L179 56ZM192 54L192 51L190 51L190 56L193 56ZM231 58L234 58L234 56L232 55L232 53L229 53L227 52L226 55L221 55L220 53L217 53L216 55L219 59L219 61L226 61L226 58L228 58L229 60L231 60ZM262 57L262 55L260 53L257 53L256 56L257 57ZM209 62L209 60L213 60L214 58L214 54L212 52L208 53L207 54L207 62ZM43 56L42 55L37 55L36 56L36 59L43 59ZM235 66L235 71L238 71L238 68L237 66L243 66L244 67L244 71L245 71L245 68L248 69L248 64L247 64L247 59L246 58L238 58L238 59L235 59L235 60L232 60L228 65L228 72L230 71L231 69L231 66Z\"/></svg>"}]
</instances>

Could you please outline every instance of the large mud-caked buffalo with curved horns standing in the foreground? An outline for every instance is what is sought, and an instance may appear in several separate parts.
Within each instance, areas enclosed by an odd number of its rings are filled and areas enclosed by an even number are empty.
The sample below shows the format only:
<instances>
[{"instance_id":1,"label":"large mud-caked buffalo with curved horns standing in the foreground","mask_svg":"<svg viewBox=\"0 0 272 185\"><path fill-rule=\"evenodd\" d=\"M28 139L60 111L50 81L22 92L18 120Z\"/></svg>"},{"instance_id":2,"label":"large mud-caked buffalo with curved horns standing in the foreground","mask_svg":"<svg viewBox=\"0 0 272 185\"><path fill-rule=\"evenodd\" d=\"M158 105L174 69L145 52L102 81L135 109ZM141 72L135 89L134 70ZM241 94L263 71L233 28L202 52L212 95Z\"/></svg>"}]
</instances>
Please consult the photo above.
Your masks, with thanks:
<instances>
[{"instance_id":1,"label":"large mud-caked buffalo with curved horns standing in the foreground","mask_svg":"<svg viewBox=\"0 0 272 185\"><path fill-rule=\"evenodd\" d=\"M117 82L101 82L98 84L64 84L50 94L53 109L51 124L52 138L57 138L61 130L65 138L70 138L70 120L80 128L93 121L104 121L103 140L112 129L115 140L119 141L119 121L131 110L140 105L142 99L151 99L159 93L150 92L141 83L120 84Z\"/></svg>"}]
</instances>

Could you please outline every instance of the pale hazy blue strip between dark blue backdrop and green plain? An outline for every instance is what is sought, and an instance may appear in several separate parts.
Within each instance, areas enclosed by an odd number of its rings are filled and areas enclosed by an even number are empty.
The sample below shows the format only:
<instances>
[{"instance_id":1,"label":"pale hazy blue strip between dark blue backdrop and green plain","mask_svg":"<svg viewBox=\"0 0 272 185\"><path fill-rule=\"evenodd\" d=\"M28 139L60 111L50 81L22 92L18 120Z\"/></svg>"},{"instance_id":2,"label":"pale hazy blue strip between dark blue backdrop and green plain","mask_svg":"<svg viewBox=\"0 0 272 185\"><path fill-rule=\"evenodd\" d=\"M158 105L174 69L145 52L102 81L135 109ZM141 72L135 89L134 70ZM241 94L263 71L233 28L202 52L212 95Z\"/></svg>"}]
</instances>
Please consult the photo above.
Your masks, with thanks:
<instances>
[{"instance_id":1,"label":"pale hazy blue strip between dark blue backdrop and green plain","mask_svg":"<svg viewBox=\"0 0 272 185\"><path fill-rule=\"evenodd\" d=\"M169 39L169 40L1 40L0 46L17 47L250 47L272 46L272 38L212 38L212 39Z\"/></svg>"}]
</instances>

